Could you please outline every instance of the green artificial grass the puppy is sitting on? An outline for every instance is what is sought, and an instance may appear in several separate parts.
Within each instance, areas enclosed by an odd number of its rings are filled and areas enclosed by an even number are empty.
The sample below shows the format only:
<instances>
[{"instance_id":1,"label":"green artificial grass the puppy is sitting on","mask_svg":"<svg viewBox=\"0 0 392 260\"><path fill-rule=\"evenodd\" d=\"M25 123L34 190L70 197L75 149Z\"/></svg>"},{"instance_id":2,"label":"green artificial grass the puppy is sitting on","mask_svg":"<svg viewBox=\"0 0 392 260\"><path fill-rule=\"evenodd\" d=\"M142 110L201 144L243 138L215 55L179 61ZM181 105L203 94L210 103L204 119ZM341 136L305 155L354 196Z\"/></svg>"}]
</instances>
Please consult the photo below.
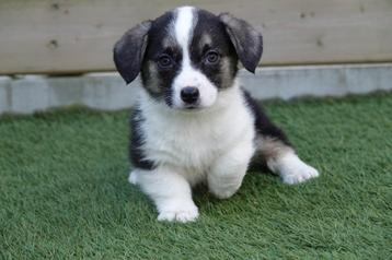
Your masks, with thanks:
<instances>
[{"instance_id":1,"label":"green artificial grass the puppy is sitting on","mask_svg":"<svg viewBox=\"0 0 392 260\"><path fill-rule=\"evenodd\" d=\"M268 115L321 172L249 173L195 223L160 223L127 182L128 113L0 119L1 259L389 259L392 94L275 102Z\"/></svg>"}]
</instances>

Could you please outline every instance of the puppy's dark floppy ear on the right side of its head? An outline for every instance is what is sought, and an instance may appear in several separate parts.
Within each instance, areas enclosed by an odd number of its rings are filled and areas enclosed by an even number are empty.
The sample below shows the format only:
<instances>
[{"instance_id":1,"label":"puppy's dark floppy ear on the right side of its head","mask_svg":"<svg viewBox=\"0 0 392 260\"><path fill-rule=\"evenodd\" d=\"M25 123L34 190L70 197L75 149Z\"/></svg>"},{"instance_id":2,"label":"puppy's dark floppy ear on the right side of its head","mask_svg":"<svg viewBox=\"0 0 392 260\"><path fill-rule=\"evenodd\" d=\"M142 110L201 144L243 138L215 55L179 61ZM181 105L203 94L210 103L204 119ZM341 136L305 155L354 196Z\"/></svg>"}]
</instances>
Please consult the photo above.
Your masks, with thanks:
<instances>
[{"instance_id":1,"label":"puppy's dark floppy ear on the right side of its head","mask_svg":"<svg viewBox=\"0 0 392 260\"><path fill-rule=\"evenodd\" d=\"M242 64L254 73L263 54L262 34L245 21L229 13L219 14L219 19L224 24Z\"/></svg>"}]
</instances>

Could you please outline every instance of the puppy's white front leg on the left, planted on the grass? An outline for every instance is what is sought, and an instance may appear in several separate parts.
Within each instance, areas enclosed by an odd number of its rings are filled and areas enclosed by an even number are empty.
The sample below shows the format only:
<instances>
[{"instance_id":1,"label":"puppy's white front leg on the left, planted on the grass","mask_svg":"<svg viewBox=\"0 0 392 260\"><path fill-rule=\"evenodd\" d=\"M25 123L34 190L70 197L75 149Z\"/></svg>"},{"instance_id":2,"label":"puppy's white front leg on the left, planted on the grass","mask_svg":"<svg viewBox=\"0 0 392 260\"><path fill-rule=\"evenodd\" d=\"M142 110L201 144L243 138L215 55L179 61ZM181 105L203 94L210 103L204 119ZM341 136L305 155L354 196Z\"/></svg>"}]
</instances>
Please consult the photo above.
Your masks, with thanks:
<instances>
[{"instance_id":1,"label":"puppy's white front leg on the left, planted on the grass","mask_svg":"<svg viewBox=\"0 0 392 260\"><path fill-rule=\"evenodd\" d=\"M186 179L170 167L153 170L134 169L129 182L139 185L151 198L159 212L159 221L189 222L198 216Z\"/></svg>"}]
</instances>

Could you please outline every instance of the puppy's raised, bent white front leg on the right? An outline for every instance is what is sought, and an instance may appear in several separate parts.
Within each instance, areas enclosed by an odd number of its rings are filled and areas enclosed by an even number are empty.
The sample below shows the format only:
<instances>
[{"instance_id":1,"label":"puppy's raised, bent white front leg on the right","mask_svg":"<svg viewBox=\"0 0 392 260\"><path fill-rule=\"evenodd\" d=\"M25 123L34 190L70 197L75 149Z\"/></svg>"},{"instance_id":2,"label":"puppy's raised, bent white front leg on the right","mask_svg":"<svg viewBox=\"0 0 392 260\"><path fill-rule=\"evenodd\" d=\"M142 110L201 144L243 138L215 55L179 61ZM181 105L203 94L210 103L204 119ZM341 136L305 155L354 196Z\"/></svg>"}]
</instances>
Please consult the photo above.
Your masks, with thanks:
<instances>
[{"instance_id":1,"label":"puppy's raised, bent white front leg on the right","mask_svg":"<svg viewBox=\"0 0 392 260\"><path fill-rule=\"evenodd\" d=\"M227 199L241 187L253 154L251 142L229 151L215 162L208 174L209 191L219 199Z\"/></svg>"}]
</instances>

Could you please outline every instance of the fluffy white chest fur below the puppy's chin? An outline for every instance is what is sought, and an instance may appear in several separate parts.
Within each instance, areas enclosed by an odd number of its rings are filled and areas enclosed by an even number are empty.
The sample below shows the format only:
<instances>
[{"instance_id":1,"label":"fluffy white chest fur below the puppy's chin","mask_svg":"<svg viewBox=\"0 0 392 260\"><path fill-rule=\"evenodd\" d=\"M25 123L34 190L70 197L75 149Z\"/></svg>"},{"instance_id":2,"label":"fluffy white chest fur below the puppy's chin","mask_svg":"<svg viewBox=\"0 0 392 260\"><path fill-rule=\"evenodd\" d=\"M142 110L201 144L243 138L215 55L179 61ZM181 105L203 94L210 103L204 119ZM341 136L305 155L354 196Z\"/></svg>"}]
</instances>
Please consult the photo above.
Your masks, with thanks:
<instances>
[{"instance_id":1,"label":"fluffy white chest fur below the puppy's chin","mask_svg":"<svg viewBox=\"0 0 392 260\"><path fill-rule=\"evenodd\" d=\"M216 105L200 111L163 108L146 93L140 98L146 158L181 168L189 180L203 178L226 151L253 145L254 119L238 86L220 92Z\"/></svg>"}]
</instances>

